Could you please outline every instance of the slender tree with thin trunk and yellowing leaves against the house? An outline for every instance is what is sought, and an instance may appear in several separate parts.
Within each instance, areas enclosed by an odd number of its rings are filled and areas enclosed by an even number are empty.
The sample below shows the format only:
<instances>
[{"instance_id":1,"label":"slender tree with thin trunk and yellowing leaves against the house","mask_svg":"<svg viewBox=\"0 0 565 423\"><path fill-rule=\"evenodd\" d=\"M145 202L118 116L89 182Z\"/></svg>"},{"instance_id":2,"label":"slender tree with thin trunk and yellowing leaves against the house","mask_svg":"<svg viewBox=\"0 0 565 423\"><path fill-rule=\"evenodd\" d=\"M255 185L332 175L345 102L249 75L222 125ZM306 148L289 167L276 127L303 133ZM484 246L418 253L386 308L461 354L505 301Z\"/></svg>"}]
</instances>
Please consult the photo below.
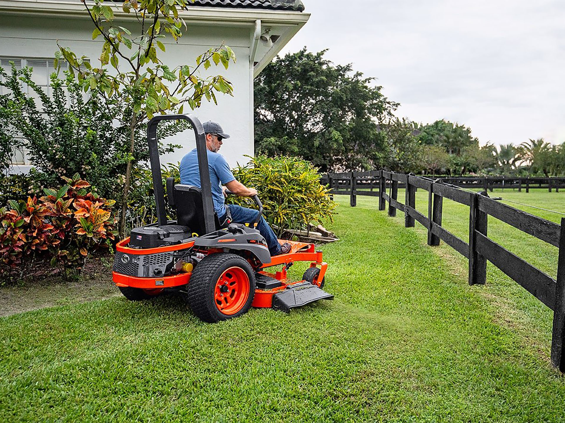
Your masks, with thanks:
<instances>
[{"instance_id":1,"label":"slender tree with thin trunk and yellowing leaves against the house","mask_svg":"<svg viewBox=\"0 0 565 423\"><path fill-rule=\"evenodd\" d=\"M129 124L130 157L121 201L121 236L125 233L125 209L137 127L156 113L182 113L184 104L191 109L197 108L203 98L216 103L215 92L232 95L232 84L223 76L202 78L198 74L201 67L208 69L212 63L216 66L221 63L227 69L229 62L236 60L228 46L209 49L196 58L193 66L184 64L170 69L158 58L158 49L165 51L161 39L170 36L176 41L182 36L181 28L183 25L186 28L186 24L179 16L179 11L186 10L188 3L193 1L125 0L121 3L121 10L136 17L134 26L138 32L134 36L132 30L115 24L114 10L118 10L118 6L108 6L104 0L95 0L90 5L83 0L94 24L92 38L103 38L99 67L94 67L86 56L79 58L71 49L58 44L55 61L64 59L68 62L85 92L99 90L123 104L121 120ZM111 72L110 66L114 68Z\"/></svg>"}]
</instances>

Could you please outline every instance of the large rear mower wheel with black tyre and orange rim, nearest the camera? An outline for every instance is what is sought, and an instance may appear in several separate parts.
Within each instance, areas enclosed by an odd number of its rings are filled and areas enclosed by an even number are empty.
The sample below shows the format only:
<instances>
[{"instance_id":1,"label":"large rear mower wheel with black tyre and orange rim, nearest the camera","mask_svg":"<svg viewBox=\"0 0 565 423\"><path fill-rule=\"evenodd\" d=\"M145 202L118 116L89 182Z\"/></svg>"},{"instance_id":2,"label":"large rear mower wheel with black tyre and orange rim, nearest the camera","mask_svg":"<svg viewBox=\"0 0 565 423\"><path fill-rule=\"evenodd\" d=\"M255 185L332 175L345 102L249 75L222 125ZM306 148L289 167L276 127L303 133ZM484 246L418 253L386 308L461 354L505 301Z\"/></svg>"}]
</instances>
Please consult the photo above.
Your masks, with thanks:
<instances>
[{"instance_id":1,"label":"large rear mower wheel with black tyre and orange rim, nearest the camera","mask_svg":"<svg viewBox=\"0 0 565 423\"><path fill-rule=\"evenodd\" d=\"M255 295L255 273L237 254L216 253L194 267L185 299L193 313L210 323L245 314Z\"/></svg>"}]
</instances>

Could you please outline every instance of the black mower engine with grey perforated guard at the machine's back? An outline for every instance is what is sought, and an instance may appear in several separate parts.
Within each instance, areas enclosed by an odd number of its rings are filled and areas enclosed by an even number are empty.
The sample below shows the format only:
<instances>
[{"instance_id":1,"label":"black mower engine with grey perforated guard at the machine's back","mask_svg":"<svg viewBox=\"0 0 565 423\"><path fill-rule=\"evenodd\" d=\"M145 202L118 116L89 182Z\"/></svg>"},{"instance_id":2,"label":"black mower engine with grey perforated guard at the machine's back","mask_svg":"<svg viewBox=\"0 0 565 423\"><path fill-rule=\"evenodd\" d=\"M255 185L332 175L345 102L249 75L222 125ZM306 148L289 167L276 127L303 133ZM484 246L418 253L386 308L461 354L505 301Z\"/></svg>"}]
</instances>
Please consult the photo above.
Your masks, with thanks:
<instances>
[{"instance_id":1,"label":"black mower engine with grey perforated guard at the machine's back","mask_svg":"<svg viewBox=\"0 0 565 423\"><path fill-rule=\"evenodd\" d=\"M169 224L155 227L134 228L129 239L129 248L147 249L181 244L191 237L186 226ZM175 252L153 254L127 254L116 252L114 272L135 277L162 277L180 272L182 258Z\"/></svg>"}]
</instances>

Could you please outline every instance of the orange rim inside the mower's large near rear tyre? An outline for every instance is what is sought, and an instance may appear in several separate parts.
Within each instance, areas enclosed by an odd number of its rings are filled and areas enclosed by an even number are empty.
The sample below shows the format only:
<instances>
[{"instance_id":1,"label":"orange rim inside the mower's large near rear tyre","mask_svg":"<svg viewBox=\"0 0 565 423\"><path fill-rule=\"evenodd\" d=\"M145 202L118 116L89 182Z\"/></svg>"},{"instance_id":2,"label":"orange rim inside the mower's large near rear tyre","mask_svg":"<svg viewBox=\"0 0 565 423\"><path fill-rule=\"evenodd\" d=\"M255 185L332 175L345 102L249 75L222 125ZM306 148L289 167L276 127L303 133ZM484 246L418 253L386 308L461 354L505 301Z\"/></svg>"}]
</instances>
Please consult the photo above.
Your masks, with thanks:
<instances>
[{"instance_id":1,"label":"orange rim inside the mower's large near rear tyre","mask_svg":"<svg viewBox=\"0 0 565 423\"><path fill-rule=\"evenodd\" d=\"M241 267L230 267L221 274L214 288L218 310L231 316L244 308L249 299L249 276Z\"/></svg>"}]
</instances>

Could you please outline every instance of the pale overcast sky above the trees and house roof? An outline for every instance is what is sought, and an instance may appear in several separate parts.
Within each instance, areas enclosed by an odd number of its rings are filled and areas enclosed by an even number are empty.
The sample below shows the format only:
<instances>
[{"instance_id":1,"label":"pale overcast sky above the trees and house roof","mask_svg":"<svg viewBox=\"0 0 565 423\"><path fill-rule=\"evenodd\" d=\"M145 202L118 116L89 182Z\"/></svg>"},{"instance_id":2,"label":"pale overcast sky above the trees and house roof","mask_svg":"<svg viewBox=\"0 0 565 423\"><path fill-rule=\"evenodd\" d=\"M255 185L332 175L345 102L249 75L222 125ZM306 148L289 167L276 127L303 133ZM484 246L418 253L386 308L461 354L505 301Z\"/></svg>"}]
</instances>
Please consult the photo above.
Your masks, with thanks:
<instances>
[{"instance_id":1,"label":"pale overcast sky above the trees and house roof","mask_svg":"<svg viewBox=\"0 0 565 423\"><path fill-rule=\"evenodd\" d=\"M302 0L282 50L329 49L376 77L397 116L441 118L481 145L565 142L565 0Z\"/></svg>"}]
</instances>

